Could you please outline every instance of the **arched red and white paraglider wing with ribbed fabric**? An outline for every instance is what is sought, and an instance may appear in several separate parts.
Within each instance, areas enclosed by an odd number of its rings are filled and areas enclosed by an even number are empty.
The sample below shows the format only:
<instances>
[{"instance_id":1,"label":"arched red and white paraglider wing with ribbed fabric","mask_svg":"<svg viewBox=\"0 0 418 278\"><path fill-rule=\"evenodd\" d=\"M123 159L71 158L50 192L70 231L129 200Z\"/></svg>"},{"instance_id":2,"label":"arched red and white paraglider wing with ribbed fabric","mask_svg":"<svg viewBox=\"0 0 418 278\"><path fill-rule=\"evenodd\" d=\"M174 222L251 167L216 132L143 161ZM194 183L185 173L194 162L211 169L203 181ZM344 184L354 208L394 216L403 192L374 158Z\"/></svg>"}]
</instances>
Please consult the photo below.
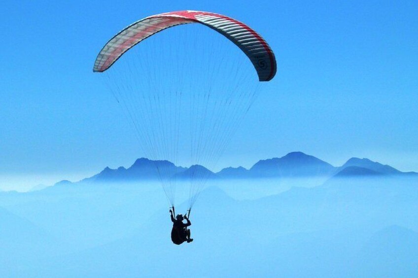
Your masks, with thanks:
<instances>
[{"instance_id":1,"label":"arched red and white paraglider wing with ribbed fabric","mask_svg":"<svg viewBox=\"0 0 418 278\"><path fill-rule=\"evenodd\" d=\"M162 13L133 23L106 43L97 56L93 71L105 71L126 51L147 37L164 29L189 23L206 25L234 42L251 60L259 81L269 81L275 76L274 53L257 32L230 17L202 11Z\"/></svg>"}]
</instances>

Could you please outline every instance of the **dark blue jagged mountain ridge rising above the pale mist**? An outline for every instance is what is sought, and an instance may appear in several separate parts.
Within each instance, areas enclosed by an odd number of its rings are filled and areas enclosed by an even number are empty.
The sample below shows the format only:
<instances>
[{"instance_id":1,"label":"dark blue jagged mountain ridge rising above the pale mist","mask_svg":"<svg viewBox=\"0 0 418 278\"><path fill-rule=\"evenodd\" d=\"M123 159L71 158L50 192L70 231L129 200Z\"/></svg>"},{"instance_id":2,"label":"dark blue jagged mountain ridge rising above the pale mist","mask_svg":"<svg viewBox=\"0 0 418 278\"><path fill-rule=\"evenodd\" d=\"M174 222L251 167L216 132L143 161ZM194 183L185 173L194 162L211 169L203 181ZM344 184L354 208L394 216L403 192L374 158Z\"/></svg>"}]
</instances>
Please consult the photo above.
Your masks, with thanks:
<instances>
[{"instance_id":1,"label":"dark blue jagged mountain ridge rising above the pale mist","mask_svg":"<svg viewBox=\"0 0 418 278\"><path fill-rule=\"evenodd\" d=\"M137 159L131 167L117 169L104 168L100 173L81 180L79 183L129 182L159 180L174 177L177 180L205 179L262 179L288 177L361 177L416 175L416 172L401 172L389 165L383 165L368 158L352 157L341 167L335 167L313 155L302 152L288 153L282 157L262 159L250 169L242 166L227 167L214 173L202 165L189 168L174 165L168 160ZM57 184L69 184L62 181Z\"/></svg>"}]
</instances>

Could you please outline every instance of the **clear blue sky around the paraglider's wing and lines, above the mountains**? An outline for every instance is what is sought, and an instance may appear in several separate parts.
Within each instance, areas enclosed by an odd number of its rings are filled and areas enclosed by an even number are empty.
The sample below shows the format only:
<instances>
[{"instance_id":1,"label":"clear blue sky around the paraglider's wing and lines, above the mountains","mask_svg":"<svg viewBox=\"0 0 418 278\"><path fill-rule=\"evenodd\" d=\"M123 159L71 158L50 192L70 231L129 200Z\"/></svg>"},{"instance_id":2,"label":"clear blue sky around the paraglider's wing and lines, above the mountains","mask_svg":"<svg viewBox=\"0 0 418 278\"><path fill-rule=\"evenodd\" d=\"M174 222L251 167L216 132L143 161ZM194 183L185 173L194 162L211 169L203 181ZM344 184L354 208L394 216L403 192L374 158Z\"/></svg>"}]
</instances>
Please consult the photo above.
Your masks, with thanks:
<instances>
[{"instance_id":1,"label":"clear blue sky around the paraglider's wing and lines, above the mountains","mask_svg":"<svg viewBox=\"0 0 418 278\"><path fill-rule=\"evenodd\" d=\"M123 27L183 9L247 23L278 60L220 166L303 151L418 171L417 1L3 1L0 189L141 156L93 62Z\"/></svg>"}]
</instances>

